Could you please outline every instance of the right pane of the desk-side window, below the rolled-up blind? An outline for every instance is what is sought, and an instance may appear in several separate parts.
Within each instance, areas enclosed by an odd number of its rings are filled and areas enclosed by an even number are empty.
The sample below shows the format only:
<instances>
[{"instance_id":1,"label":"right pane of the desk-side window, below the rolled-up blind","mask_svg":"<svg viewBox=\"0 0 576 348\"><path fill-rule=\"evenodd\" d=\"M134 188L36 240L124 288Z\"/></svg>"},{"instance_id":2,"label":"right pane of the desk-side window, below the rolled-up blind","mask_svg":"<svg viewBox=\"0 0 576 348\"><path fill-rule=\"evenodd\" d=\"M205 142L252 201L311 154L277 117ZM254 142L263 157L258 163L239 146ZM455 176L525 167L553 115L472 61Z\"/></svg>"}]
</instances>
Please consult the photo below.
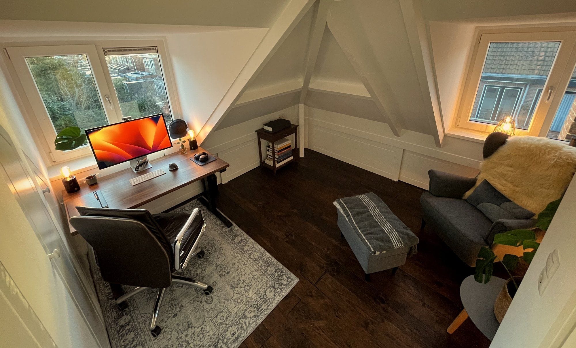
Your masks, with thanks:
<instances>
[{"instance_id":1,"label":"right pane of the desk-side window, below the rolled-up blind","mask_svg":"<svg viewBox=\"0 0 576 348\"><path fill-rule=\"evenodd\" d=\"M163 113L172 120L158 53L108 55L106 63L123 116Z\"/></svg>"}]
</instances>

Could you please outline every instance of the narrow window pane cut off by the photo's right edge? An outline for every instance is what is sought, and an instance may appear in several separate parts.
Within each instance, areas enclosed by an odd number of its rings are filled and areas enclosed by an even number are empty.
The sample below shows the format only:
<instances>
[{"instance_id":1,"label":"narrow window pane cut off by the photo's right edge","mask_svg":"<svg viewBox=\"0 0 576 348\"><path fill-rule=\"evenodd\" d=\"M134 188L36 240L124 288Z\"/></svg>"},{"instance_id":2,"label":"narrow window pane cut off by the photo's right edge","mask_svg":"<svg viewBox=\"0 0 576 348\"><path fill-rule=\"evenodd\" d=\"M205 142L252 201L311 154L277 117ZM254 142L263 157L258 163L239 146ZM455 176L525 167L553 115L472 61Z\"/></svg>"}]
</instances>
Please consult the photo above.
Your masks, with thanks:
<instances>
[{"instance_id":1,"label":"narrow window pane cut off by the photo's right edge","mask_svg":"<svg viewBox=\"0 0 576 348\"><path fill-rule=\"evenodd\" d=\"M547 136L550 139L570 141L573 135L576 135L576 69L572 72Z\"/></svg>"}]
</instances>

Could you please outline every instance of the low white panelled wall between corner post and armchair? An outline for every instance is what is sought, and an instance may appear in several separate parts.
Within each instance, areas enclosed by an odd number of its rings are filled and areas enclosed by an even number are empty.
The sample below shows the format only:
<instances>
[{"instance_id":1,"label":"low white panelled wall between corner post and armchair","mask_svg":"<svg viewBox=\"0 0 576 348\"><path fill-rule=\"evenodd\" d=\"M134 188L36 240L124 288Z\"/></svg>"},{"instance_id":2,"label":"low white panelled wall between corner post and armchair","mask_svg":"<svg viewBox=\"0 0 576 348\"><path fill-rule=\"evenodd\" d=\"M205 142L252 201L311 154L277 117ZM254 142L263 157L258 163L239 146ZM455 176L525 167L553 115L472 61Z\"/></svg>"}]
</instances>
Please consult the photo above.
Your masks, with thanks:
<instances>
[{"instance_id":1,"label":"low white panelled wall between corner post and armchair","mask_svg":"<svg viewBox=\"0 0 576 348\"><path fill-rule=\"evenodd\" d=\"M448 137L437 148L431 135L411 131L395 137L385 123L305 108L307 147L392 180L428 188L430 169L474 177L482 144Z\"/></svg>"}]
</instances>

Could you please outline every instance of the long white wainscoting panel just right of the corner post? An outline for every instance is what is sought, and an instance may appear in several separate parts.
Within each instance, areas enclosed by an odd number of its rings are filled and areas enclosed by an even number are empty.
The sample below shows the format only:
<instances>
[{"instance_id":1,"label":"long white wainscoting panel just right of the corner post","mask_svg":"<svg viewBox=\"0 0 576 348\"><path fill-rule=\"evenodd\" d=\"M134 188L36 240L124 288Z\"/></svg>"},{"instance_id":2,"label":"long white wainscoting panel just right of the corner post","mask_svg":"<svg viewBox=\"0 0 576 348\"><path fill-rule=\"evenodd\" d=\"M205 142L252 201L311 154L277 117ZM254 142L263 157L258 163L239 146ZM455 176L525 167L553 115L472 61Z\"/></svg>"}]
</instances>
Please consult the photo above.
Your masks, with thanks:
<instances>
[{"instance_id":1,"label":"long white wainscoting panel just right of the corner post","mask_svg":"<svg viewBox=\"0 0 576 348\"><path fill-rule=\"evenodd\" d=\"M351 165L398 180L402 149L310 124L309 147Z\"/></svg>"}]
</instances>

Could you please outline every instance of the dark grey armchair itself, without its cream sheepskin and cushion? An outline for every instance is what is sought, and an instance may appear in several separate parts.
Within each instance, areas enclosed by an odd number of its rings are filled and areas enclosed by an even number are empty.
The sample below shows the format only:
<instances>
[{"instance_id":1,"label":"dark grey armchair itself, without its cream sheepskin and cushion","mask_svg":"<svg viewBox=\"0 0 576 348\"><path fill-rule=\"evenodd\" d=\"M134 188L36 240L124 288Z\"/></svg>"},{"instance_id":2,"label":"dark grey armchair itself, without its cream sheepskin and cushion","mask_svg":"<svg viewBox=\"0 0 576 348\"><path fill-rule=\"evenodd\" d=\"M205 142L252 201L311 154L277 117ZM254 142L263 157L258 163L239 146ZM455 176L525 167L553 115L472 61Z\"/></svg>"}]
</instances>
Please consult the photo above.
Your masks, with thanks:
<instances>
[{"instance_id":1,"label":"dark grey armchair itself, without its cream sheepskin and cushion","mask_svg":"<svg viewBox=\"0 0 576 348\"><path fill-rule=\"evenodd\" d=\"M484 159L501 147L508 136L491 133L484 142ZM535 221L497 220L494 223L475 206L462 199L476 178L429 170L429 192L420 197L422 228L428 224L458 257L469 266L476 265L478 252L490 246L494 235L518 228L533 228Z\"/></svg>"}]
</instances>

